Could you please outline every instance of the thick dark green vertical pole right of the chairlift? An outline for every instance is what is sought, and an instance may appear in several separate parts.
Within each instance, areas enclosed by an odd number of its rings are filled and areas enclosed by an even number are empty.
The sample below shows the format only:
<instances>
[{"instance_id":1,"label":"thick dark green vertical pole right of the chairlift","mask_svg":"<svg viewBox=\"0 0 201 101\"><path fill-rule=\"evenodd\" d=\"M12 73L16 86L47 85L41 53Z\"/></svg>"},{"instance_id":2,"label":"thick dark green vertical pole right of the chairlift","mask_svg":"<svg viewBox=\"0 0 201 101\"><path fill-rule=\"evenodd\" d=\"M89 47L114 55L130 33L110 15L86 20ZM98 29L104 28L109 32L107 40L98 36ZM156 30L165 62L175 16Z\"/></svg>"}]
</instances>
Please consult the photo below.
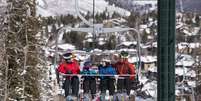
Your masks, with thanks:
<instances>
[{"instance_id":1,"label":"thick dark green vertical pole right of the chairlift","mask_svg":"<svg viewBox=\"0 0 201 101\"><path fill-rule=\"evenodd\" d=\"M158 101L175 101L175 0L158 1Z\"/></svg>"}]
</instances>

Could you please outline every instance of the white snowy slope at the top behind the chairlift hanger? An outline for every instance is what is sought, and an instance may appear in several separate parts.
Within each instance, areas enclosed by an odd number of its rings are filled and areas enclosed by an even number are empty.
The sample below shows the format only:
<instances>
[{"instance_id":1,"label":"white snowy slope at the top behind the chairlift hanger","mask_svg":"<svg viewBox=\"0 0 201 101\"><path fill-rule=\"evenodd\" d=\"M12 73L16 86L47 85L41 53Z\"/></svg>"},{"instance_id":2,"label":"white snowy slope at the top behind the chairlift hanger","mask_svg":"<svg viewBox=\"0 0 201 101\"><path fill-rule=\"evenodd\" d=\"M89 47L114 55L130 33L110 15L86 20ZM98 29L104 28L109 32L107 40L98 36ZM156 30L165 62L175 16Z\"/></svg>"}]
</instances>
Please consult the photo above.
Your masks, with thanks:
<instances>
[{"instance_id":1,"label":"white snowy slope at the top behind the chairlift hanger","mask_svg":"<svg viewBox=\"0 0 201 101\"><path fill-rule=\"evenodd\" d=\"M86 14L92 12L93 0L78 0L80 12ZM75 15L75 0L37 0L37 13L42 16ZM96 0L95 12L103 12L107 9L110 14L114 11L122 16L129 16L130 12L119 7L111 6L105 0Z\"/></svg>"}]
</instances>

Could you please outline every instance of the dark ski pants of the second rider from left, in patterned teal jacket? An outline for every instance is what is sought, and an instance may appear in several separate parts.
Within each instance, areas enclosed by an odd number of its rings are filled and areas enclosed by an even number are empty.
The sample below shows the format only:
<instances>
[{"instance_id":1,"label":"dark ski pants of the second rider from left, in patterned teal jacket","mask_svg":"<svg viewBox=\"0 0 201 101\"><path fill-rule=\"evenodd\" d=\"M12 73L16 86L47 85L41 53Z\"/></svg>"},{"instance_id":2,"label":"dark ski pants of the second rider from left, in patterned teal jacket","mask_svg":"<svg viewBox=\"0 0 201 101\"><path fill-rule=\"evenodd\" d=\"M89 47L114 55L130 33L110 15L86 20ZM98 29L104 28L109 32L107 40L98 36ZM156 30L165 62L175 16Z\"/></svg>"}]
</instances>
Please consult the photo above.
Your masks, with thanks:
<instances>
[{"instance_id":1,"label":"dark ski pants of the second rider from left, in patterned teal jacket","mask_svg":"<svg viewBox=\"0 0 201 101\"><path fill-rule=\"evenodd\" d=\"M96 79L93 77L85 77L83 81L84 93L91 91L92 95L96 94Z\"/></svg>"}]
</instances>

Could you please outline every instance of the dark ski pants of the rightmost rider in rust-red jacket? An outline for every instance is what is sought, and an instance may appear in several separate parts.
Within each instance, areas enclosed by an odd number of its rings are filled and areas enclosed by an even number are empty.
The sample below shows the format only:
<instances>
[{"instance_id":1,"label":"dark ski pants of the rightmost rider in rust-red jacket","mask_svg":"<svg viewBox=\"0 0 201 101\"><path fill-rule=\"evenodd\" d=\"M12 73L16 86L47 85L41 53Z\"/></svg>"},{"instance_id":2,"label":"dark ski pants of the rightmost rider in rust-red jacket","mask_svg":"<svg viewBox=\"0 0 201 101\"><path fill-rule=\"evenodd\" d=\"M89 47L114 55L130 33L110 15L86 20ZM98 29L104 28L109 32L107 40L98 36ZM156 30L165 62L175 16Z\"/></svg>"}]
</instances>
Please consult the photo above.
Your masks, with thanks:
<instances>
[{"instance_id":1,"label":"dark ski pants of the rightmost rider in rust-red jacket","mask_svg":"<svg viewBox=\"0 0 201 101\"><path fill-rule=\"evenodd\" d=\"M125 77L124 79L118 79L117 81L117 90L123 92L126 90L126 93L129 95L131 90L131 80L129 77Z\"/></svg>"}]
</instances>

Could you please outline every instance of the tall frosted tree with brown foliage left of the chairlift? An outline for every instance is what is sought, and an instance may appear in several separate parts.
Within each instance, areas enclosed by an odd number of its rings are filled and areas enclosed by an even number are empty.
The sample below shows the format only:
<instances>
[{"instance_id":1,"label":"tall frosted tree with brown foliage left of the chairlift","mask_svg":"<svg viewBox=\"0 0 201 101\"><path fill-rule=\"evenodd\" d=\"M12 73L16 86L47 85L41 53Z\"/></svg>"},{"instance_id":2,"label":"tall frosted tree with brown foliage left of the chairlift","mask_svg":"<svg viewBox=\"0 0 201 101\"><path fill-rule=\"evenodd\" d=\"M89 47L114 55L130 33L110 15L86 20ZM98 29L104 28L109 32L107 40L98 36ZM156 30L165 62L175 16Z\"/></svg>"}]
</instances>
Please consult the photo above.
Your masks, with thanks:
<instances>
[{"instance_id":1,"label":"tall frosted tree with brown foliage left of the chairlift","mask_svg":"<svg viewBox=\"0 0 201 101\"><path fill-rule=\"evenodd\" d=\"M8 99L40 100L41 50L36 34L40 22L36 17L35 0L7 0L8 30L5 38Z\"/></svg>"}]
</instances>

